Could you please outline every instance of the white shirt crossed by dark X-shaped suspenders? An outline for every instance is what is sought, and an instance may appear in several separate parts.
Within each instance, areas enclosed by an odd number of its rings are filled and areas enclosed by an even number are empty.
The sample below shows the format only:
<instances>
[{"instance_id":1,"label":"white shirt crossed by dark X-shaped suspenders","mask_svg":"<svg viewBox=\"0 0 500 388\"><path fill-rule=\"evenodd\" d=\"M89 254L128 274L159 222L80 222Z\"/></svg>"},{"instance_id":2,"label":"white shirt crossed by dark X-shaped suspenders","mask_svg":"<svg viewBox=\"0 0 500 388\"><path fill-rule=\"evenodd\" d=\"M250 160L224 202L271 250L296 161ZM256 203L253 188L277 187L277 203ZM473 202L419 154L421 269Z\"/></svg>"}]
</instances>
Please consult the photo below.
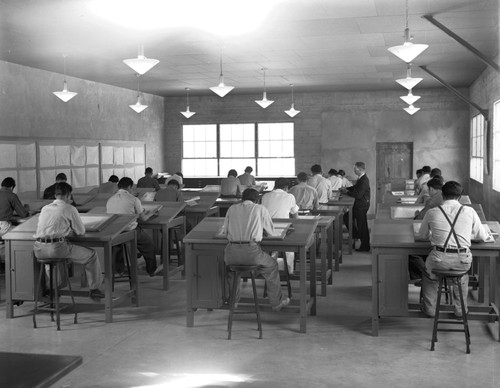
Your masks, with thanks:
<instances>
[{"instance_id":1,"label":"white shirt crossed by dark X-shaped suspenders","mask_svg":"<svg viewBox=\"0 0 500 388\"><path fill-rule=\"evenodd\" d=\"M441 205L451 222L455 219L458 209L460 209L461 206L460 202L454 199L444 201L443 205ZM419 239L426 240L430 236L431 244L433 246L443 247L450 230L451 226L446 220L444 214L438 207L435 207L429 209L425 214L417 237ZM458 221L455 224L455 232L457 234L460 247L462 248L470 247L471 237L474 240L480 241L484 241L488 238L488 233L483 228L479 216L470 206L464 206L464 208L460 211ZM455 237L452 235L448 241L447 247L458 246L459 244L455 241Z\"/></svg>"}]
</instances>

